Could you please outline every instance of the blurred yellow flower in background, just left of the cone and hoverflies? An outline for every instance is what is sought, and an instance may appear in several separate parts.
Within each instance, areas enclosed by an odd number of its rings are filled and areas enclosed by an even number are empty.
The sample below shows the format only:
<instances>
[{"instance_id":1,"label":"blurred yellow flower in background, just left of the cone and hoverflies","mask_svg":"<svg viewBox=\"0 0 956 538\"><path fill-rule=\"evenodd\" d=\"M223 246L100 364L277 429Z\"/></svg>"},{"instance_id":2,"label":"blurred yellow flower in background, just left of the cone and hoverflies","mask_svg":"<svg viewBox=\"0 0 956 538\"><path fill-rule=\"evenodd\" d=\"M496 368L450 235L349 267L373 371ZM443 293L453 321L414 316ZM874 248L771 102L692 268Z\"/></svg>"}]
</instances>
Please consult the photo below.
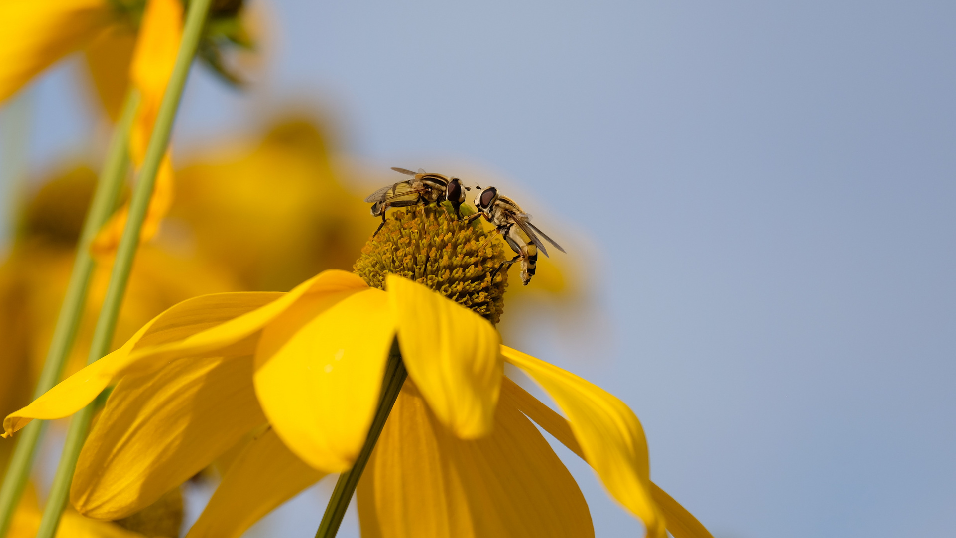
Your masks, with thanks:
<instances>
[{"instance_id":1,"label":"blurred yellow flower in background, just left of the cone and hoverflies","mask_svg":"<svg viewBox=\"0 0 956 538\"><path fill-rule=\"evenodd\" d=\"M376 223L333 167L330 138L323 125L290 116L259 140L207 148L177 170L167 223L248 290L288 291L350 268Z\"/></svg>"}]
</instances>

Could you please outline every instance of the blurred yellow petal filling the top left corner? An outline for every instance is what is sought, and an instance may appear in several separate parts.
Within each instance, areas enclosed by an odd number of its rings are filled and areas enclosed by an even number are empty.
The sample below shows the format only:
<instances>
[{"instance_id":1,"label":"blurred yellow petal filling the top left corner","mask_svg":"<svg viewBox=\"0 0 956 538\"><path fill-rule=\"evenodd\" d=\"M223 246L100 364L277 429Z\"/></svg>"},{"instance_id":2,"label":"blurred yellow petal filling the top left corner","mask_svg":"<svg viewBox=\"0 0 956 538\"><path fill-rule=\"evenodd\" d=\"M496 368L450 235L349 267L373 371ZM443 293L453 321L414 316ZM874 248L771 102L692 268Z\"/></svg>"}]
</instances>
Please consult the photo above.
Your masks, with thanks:
<instances>
[{"instance_id":1,"label":"blurred yellow petal filling the top left corner","mask_svg":"<svg viewBox=\"0 0 956 538\"><path fill-rule=\"evenodd\" d=\"M86 45L109 22L104 0L0 2L0 101Z\"/></svg>"}]
</instances>

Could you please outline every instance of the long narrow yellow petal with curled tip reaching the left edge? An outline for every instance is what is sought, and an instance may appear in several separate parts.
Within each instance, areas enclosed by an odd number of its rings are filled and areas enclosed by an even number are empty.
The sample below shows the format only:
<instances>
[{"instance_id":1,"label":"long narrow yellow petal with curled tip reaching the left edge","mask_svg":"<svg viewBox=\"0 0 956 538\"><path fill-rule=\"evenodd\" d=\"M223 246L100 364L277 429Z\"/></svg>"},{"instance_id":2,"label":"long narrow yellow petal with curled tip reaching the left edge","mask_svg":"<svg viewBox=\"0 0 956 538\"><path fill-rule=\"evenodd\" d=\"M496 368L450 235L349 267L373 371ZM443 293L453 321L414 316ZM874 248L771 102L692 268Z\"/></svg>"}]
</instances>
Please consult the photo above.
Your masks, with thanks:
<instances>
[{"instance_id":1,"label":"long narrow yellow petal with curled tip reaching the left edge","mask_svg":"<svg viewBox=\"0 0 956 538\"><path fill-rule=\"evenodd\" d=\"M123 374L129 371L151 371L162 368L163 364L176 358L175 353L166 354L148 354L138 353L137 351L145 348L163 348L163 344L175 343L188 340L189 335L205 334L204 329L212 326L215 330L219 326L228 325L228 322L237 316L243 318L242 314L250 312L254 314L263 308L269 308L274 303L287 299L292 294L280 294L270 292L250 292L250 293L219 293L213 295L204 295L188 299L183 303L176 304L165 312L154 318L148 324L143 325L128 342L122 345L116 351L99 359L97 362L87 366L83 370L61 381L50 391L40 395L33 400L33 403L27 407L11 413L4 420L4 437L10 437L13 432L26 426L33 418L49 420L53 418L63 418L73 415L86 404L93 401L97 394L110 384L117 381ZM276 301L276 298L280 298ZM218 326L217 326L218 325ZM259 325L261 326L261 325ZM249 329L249 326L243 325ZM221 339L226 342L221 347L242 340L249 336L255 329L247 332L229 333L229 338ZM196 333L199 333L198 335ZM207 344L207 339L202 340ZM215 347L200 347L203 350L215 349ZM231 355L242 354L241 351L250 353L251 346L247 349L234 349ZM196 356L198 352L192 356ZM185 356L185 355L179 355ZM138 364L141 363L141 364Z\"/></svg>"}]
</instances>

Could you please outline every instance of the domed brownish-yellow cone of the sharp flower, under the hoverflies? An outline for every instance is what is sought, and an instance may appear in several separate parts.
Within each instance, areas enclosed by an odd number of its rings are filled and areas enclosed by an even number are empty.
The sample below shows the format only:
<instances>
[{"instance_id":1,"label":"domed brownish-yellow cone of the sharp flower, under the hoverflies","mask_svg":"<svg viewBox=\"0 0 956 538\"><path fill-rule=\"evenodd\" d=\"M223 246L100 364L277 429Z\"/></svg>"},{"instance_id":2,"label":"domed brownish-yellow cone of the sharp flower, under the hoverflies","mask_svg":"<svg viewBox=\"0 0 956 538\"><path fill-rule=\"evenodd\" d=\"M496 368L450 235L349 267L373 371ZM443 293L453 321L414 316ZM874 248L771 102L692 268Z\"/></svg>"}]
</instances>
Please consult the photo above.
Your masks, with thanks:
<instances>
[{"instance_id":1,"label":"domed brownish-yellow cone of the sharp flower, under the hoverflies","mask_svg":"<svg viewBox=\"0 0 956 538\"><path fill-rule=\"evenodd\" d=\"M461 210L473 213L466 206ZM501 241L491 239L480 222L465 224L450 209L445 213L445 206L391 210L379 234L362 247L354 270L379 289L389 273L415 280L497 324L508 271L498 271L492 280L505 253Z\"/></svg>"}]
</instances>

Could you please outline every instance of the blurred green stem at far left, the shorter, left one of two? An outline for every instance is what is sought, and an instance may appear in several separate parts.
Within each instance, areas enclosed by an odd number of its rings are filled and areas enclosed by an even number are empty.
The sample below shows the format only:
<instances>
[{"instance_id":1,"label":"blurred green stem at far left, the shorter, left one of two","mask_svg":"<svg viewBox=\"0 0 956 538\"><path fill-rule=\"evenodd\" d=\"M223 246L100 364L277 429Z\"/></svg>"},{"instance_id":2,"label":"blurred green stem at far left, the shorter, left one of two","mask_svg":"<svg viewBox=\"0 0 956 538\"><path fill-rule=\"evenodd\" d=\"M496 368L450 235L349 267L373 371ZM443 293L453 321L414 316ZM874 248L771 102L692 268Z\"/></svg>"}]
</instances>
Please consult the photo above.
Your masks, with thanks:
<instances>
[{"instance_id":1,"label":"blurred green stem at far left, the shorter, left one of two","mask_svg":"<svg viewBox=\"0 0 956 538\"><path fill-rule=\"evenodd\" d=\"M53 388L56 380L63 373L63 366L66 364L70 349L73 348L76 329L83 317L83 306L86 304L90 278L96 266L95 260L90 255L90 243L116 209L123 177L129 166L126 141L129 139L130 126L133 124L139 102L139 94L135 91L130 91L123 102L120 122L113 131L110 146L106 152L106 160L99 173L97 190L93 194L89 212L83 223L83 231L76 244L73 273L70 275L70 283L67 285L66 295L60 306L53 340L50 342L47 360L36 383L33 398ZM33 420L17 438L3 487L0 487L0 537L7 535L13 513L30 478L36 445L43 436L45 424L43 420Z\"/></svg>"}]
</instances>

